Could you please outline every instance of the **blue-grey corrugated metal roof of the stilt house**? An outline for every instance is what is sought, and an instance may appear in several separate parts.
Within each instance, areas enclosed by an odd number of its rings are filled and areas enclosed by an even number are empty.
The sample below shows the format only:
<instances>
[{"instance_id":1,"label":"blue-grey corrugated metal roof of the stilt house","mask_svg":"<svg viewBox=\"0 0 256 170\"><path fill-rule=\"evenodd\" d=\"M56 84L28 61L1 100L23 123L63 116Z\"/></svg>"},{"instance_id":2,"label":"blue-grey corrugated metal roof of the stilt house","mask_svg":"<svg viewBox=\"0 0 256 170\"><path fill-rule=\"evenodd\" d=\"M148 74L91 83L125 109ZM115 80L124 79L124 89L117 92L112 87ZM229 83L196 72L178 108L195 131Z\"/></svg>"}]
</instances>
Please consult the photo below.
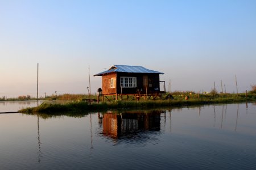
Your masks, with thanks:
<instances>
[{"instance_id":1,"label":"blue-grey corrugated metal roof of the stilt house","mask_svg":"<svg viewBox=\"0 0 256 170\"><path fill-rule=\"evenodd\" d=\"M127 65L113 65L109 70L95 74L94 76L104 75L108 73L122 72L122 73L150 73L150 74L163 74L159 71L149 70L142 66L127 66Z\"/></svg>"}]
</instances>

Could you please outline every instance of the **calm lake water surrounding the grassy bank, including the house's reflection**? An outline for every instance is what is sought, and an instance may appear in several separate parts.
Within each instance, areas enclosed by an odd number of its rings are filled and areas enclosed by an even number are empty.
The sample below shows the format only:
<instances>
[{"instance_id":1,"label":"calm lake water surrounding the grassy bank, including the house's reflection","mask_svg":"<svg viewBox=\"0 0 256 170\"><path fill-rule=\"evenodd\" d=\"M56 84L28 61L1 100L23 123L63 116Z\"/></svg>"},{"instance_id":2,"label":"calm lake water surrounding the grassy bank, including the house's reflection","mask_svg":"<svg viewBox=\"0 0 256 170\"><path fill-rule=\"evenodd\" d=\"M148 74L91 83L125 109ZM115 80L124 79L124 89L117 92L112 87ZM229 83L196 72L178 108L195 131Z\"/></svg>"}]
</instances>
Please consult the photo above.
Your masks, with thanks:
<instances>
[{"instance_id":1,"label":"calm lake water surrounding the grassy bank, including the house's reflection","mask_svg":"<svg viewBox=\"0 0 256 170\"><path fill-rule=\"evenodd\" d=\"M0 169L256 169L256 105L0 114Z\"/></svg>"}]
</instances>

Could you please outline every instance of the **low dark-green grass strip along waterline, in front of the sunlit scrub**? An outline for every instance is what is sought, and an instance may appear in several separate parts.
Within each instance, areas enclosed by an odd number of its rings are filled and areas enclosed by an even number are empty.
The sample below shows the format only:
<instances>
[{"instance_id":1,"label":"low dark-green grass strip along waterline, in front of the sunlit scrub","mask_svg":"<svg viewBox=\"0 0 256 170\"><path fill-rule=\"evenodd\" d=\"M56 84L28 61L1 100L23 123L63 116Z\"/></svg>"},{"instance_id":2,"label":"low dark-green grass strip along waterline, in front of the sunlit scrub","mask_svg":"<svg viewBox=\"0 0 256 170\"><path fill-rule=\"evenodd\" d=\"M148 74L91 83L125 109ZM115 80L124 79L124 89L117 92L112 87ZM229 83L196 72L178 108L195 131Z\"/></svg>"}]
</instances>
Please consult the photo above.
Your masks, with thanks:
<instances>
[{"instance_id":1,"label":"low dark-green grass strip along waterline, in front of the sunlit scrub","mask_svg":"<svg viewBox=\"0 0 256 170\"><path fill-rule=\"evenodd\" d=\"M175 100L141 100L136 101L112 101L110 103L92 103L86 101L75 101L69 103L43 103L39 107L26 108L20 112L27 113L61 113L61 112L97 112L108 109L131 109L131 108L157 108L157 107L187 107L204 104L226 104L255 101L253 98L245 97L217 97L214 99L175 99Z\"/></svg>"}]
</instances>

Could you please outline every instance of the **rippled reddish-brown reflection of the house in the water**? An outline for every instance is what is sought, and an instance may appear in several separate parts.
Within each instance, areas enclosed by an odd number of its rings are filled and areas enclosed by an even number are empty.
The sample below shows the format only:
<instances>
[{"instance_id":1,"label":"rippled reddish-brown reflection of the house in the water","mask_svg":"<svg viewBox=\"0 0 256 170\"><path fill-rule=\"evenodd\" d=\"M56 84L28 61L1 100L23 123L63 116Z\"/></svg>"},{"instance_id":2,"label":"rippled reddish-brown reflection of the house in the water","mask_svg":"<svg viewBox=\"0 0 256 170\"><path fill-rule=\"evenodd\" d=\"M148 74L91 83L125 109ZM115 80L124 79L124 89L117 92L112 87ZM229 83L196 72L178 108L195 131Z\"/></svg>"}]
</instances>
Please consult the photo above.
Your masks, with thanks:
<instances>
[{"instance_id":1,"label":"rippled reddish-brown reflection of the house in the water","mask_svg":"<svg viewBox=\"0 0 256 170\"><path fill-rule=\"evenodd\" d=\"M105 113L103 134L112 138L130 138L138 133L159 131L161 113L163 111Z\"/></svg>"}]
</instances>

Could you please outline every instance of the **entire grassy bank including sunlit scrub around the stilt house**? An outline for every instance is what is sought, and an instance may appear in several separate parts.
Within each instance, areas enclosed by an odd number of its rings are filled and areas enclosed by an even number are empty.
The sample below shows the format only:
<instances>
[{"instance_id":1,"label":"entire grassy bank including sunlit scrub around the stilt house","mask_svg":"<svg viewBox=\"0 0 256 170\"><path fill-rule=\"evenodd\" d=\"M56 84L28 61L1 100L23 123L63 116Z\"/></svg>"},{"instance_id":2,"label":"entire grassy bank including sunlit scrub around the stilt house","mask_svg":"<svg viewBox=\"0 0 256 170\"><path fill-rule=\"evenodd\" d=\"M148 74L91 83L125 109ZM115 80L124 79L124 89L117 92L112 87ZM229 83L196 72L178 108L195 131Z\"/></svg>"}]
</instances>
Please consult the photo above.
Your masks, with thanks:
<instances>
[{"instance_id":1,"label":"entire grassy bank including sunlit scrub around the stilt house","mask_svg":"<svg viewBox=\"0 0 256 170\"><path fill-rule=\"evenodd\" d=\"M92 103L89 104L88 95L72 95L64 94L59 96L48 97L43 104L39 107L26 108L20 110L20 112L27 113L59 113L61 112L97 112L107 111L109 109L131 109L131 108L157 108L157 107L183 107L191 105L203 105L203 104L220 104L220 103L240 103L245 101L256 101L256 93L252 90L247 93L241 94L222 94L217 91L196 93L193 91L175 91L170 94L173 98L153 100L152 97L144 98L136 101L132 97L124 95L123 100L115 100L114 97L108 97L103 103L97 103L97 96L92 95ZM170 96L166 94L165 98ZM121 97L119 97L121 98ZM187 99L187 100L186 100ZM66 102L64 102L66 101Z\"/></svg>"}]
</instances>

